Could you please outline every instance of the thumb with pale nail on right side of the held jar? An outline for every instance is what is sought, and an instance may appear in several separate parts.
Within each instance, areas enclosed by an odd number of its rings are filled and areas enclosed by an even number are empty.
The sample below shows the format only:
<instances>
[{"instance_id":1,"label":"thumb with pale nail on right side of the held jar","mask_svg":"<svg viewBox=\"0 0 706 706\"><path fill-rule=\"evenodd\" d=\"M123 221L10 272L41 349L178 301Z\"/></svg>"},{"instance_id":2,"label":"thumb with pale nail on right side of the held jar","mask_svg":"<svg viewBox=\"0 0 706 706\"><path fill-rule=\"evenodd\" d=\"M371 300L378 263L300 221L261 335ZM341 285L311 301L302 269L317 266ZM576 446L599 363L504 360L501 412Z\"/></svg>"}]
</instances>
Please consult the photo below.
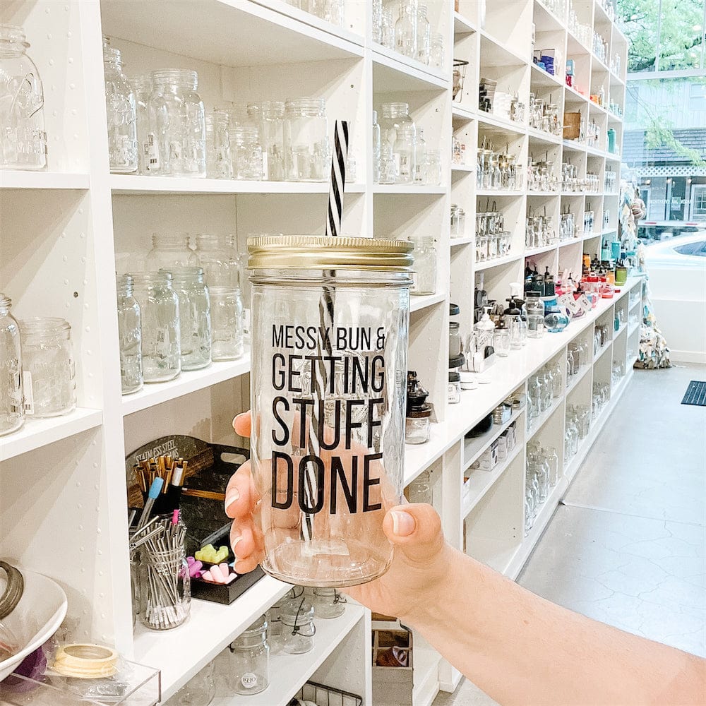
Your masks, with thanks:
<instances>
[{"instance_id":1,"label":"thumb with pale nail on right side of the held jar","mask_svg":"<svg viewBox=\"0 0 706 706\"><path fill-rule=\"evenodd\" d=\"M431 505L397 505L388 510L383 531L412 561L431 561L443 548L441 517Z\"/></svg>"}]
</instances>

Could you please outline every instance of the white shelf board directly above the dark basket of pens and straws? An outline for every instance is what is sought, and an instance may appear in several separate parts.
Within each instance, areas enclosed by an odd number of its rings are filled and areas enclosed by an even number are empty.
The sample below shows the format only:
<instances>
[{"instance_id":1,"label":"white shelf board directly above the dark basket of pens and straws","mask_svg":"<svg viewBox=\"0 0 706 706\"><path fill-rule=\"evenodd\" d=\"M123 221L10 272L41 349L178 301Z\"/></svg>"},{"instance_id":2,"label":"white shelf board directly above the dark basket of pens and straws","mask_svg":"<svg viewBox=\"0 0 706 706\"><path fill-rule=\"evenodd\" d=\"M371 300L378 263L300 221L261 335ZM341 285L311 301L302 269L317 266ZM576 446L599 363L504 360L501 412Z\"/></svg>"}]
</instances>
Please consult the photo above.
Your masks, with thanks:
<instances>
[{"instance_id":1,"label":"white shelf board directly above the dark basket of pens and straws","mask_svg":"<svg viewBox=\"0 0 706 706\"><path fill-rule=\"evenodd\" d=\"M160 405L162 402L174 400L176 397L188 395L203 390L216 383L222 383L230 378L237 378L250 372L250 349L246 347L244 354L237 360L223 363L212 363L208 368L191 370L181 373L178 378L167 383L151 383L133 395L124 395L123 414L133 414L142 409Z\"/></svg>"}]
</instances>

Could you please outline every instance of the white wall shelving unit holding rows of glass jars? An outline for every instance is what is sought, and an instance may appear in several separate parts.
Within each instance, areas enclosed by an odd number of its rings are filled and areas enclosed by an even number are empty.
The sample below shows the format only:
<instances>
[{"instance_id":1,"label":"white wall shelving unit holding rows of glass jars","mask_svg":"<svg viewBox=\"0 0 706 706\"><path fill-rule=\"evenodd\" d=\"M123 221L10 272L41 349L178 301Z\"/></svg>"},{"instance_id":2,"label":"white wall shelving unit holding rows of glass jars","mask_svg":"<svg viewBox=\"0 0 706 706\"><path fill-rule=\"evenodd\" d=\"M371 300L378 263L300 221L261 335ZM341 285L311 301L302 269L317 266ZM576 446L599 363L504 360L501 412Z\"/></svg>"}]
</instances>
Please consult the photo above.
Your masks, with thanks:
<instances>
[{"instance_id":1,"label":"white wall shelving unit holding rows of glass jars","mask_svg":"<svg viewBox=\"0 0 706 706\"><path fill-rule=\"evenodd\" d=\"M590 164L602 178L606 162L619 167L618 158L604 151L605 130L609 123L616 129L619 145L622 126L616 116L564 86L563 76L552 77L532 66L534 22L538 36L551 35L551 45L563 50L565 58L580 54L577 64L588 78L579 88L588 91L594 76L596 80L609 76L606 67L566 30L566 18L551 15L539 0L513 2L513 22L503 19L507 3L489 4L483 27L474 0L460 0L459 12L448 0L431 0L429 6L433 31L446 40L443 72L374 44L369 0L347 1L345 28L325 23L284 0L66 0L61 4L17 0L4 10L4 22L25 28L30 54L44 81L49 164L46 172L0 172L2 289L13 299L13 312L19 318L62 316L71 323L79 406L66 417L28 421L22 430L0 441L0 555L61 583L78 638L113 643L126 656L159 668L165 699L287 586L265 578L231 606L194 600L190 621L176 630L152 633L138 626L133 631L124 458L134 448L169 433L236 443L231 421L249 407L250 357L246 351L237 361L183 373L175 381L148 385L136 395L121 397L112 273L124 258L131 267L137 266L150 249L152 232L234 233L241 250L253 232L323 232L328 184L109 174L106 116L100 100L102 35L121 50L131 76L164 66L196 69L207 108L297 95L325 97L330 119L352 121L357 182L346 185L342 232L403 239L420 231L434 234L438 292L412 298L409 368L416 369L429 388L438 421L429 443L406 448L405 484L424 470L431 471L433 502L455 546L467 546L481 561L517 575L580 457L625 389L624 380L612 390L608 408L578 456L566 466L561 483L527 537L522 532L528 436L524 410L513 416L522 425L522 434L508 460L474 480L472 493L463 495L464 470L473 460L471 455L482 451L473 446L469 450L465 433L513 390L525 386L546 361L566 354L568 343L585 335L599 316L610 317L636 282L630 281L616 299L602 301L565 332L531 340L521 351L498 359L482 374L483 384L462 393L455 409L448 407L448 303L460 305L462 333L467 333L472 325L475 273L484 270L489 296L504 299L509 282L522 281L527 256L553 271L558 265L572 265L579 271L580 244L586 241L586 247L596 251L600 239L612 232L599 229L586 239L526 252L520 228L528 204L539 198L558 213L564 196L477 189L474 164L479 139L492 134L508 141L523 164L534 148L553 150L555 162L561 163L565 155L578 160L584 172ZM611 56L620 53L625 66L625 37L606 25L597 1L588 0L581 13L585 21L609 28ZM452 100L452 58L469 61L460 102ZM481 76L498 78L499 88L517 92L525 104L530 90L537 87L539 92L558 96L560 112L567 105L579 106L602 127L599 148L585 148L479 112ZM607 95L623 104L623 77L605 78L604 85ZM427 144L441 150L441 186L372 183L371 111L390 100L409 102ZM452 133L464 137L465 165L450 163ZM497 199L512 216L508 222L517 227L510 256L476 263L474 220L481 196ZM600 227L605 203L614 196L571 194L567 198L580 199L581 208L592 203ZM459 239L450 239L451 203L462 205L466 212L465 237ZM613 222L616 217L617 211L611 213ZM628 371L631 351L634 357L638 348L638 328L623 328L608 344L614 357L625 357ZM606 361L609 371L611 360L607 348L604 355L582 373L581 381L572 381L566 395L590 389L592 383L586 377L605 380ZM531 433L563 433L564 404L564 397L556 400L549 421L539 420ZM552 420L559 417L561 424L555 424ZM559 439L554 443L563 447ZM366 705L371 704L369 612L350 604L342 618L321 621L318 628L313 653L273 657L272 684L256 702L286 704L301 683L313 677L361 693ZM460 675L421 636L415 637L415 645L419 652L414 706L429 705L439 688L453 690ZM232 695L217 698L222 705L239 702Z\"/></svg>"}]
</instances>

